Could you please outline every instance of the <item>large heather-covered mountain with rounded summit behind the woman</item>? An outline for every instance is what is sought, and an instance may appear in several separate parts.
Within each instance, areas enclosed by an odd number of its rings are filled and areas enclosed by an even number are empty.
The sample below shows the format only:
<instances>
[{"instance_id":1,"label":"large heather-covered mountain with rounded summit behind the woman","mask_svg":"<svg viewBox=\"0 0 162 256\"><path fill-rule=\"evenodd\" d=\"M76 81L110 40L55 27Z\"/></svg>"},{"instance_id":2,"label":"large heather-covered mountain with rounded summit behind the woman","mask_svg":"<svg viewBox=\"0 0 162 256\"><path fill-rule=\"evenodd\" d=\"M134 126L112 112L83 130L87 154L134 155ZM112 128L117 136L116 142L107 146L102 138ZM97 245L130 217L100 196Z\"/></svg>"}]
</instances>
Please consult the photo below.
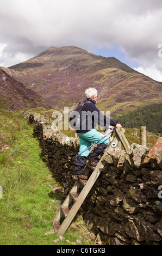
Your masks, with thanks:
<instances>
[{"instance_id":1,"label":"large heather-covered mountain with rounded summit behind the woman","mask_svg":"<svg viewBox=\"0 0 162 256\"><path fill-rule=\"evenodd\" d=\"M114 57L96 56L74 46L50 47L7 72L58 109L84 100L88 87L99 92L98 108L113 115L162 101L161 83Z\"/></svg>"}]
</instances>

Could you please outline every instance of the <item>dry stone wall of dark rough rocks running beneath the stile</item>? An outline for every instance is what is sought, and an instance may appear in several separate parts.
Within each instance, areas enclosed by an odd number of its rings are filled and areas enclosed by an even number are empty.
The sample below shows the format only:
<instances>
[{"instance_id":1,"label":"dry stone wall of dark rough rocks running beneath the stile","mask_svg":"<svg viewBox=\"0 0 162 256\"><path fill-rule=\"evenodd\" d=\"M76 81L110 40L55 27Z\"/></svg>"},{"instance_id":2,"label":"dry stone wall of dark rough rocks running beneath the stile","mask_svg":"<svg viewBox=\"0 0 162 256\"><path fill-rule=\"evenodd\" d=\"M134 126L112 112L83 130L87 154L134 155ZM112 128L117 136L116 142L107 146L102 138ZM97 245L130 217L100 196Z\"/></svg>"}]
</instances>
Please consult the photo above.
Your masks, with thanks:
<instances>
[{"instance_id":1,"label":"dry stone wall of dark rough rocks running beneath the stile","mask_svg":"<svg viewBox=\"0 0 162 256\"><path fill-rule=\"evenodd\" d=\"M67 192L73 184L79 138L56 131L39 114L30 114L29 121L39 138L43 160ZM88 229L103 245L162 244L161 143L159 138L151 149L133 143L130 150L105 156L105 168L82 205Z\"/></svg>"}]
</instances>

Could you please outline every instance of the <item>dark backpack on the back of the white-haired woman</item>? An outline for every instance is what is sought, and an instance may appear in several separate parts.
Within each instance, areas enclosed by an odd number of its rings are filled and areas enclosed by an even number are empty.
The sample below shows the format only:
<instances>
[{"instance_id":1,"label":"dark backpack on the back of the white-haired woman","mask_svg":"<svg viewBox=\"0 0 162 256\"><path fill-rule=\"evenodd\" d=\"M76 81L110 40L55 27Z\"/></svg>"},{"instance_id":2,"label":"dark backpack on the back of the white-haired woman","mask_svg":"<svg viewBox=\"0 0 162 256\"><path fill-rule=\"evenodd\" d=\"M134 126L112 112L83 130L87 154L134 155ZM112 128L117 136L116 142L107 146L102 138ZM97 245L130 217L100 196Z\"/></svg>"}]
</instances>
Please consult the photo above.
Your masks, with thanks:
<instances>
[{"instance_id":1,"label":"dark backpack on the back of the white-haired woman","mask_svg":"<svg viewBox=\"0 0 162 256\"><path fill-rule=\"evenodd\" d=\"M82 118L82 109L86 103L92 103L92 102L89 100L85 100L84 102L79 102L79 104L70 112L68 119L70 121L72 128L76 129L77 127L80 126L80 121ZM73 123L72 120L74 119L76 119L76 121L74 121Z\"/></svg>"}]
</instances>

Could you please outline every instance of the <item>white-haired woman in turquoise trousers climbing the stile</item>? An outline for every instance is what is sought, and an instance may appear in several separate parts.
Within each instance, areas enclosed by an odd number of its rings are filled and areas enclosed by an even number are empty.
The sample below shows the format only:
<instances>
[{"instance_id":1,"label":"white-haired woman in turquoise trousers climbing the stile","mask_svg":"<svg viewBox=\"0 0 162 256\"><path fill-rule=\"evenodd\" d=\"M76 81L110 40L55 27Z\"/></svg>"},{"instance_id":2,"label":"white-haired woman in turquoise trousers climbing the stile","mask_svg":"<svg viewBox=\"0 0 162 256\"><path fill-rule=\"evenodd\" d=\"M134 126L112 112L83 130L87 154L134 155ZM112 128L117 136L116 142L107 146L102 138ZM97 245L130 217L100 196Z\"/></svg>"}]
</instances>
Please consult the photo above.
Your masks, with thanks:
<instances>
[{"instance_id":1,"label":"white-haired woman in turquoise trousers climbing the stile","mask_svg":"<svg viewBox=\"0 0 162 256\"><path fill-rule=\"evenodd\" d=\"M115 121L103 115L99 109L96 107L98 92L95 88L89 87L85 90L86 99L82 109L82 124L80 124L77 130L77 135L80 139L79 155L76 158L75 169L73 179L88 179L88 176L83 175L83 168L85 166L86 157L88 157L89 164L96 167L98 163L98 155L101 154L105 148L107 148L110 143L108 138L103 138L98 142L98 145L94 148L91 154L90 149L84 151L90 145L97 142L103 137L103 134L95 129L96 124L105 127L105 129L114 129L115 127L122 127L121 124L117 124ZM82 154L80 154L84 151Z\"/></svg>"}]
</instances>

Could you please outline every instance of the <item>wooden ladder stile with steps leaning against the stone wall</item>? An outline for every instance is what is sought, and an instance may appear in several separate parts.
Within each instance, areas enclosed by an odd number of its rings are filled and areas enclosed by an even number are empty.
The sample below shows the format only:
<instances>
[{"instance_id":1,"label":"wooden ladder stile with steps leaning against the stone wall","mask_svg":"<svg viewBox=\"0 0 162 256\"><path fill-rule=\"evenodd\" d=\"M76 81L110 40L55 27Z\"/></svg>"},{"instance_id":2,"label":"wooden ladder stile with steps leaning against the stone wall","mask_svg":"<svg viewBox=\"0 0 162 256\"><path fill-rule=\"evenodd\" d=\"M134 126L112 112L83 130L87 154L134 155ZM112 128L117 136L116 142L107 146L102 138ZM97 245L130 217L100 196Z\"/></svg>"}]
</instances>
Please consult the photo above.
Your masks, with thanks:
<instances>
[{"instance_id":1,"label":"wooden ladder stile with steps leaning against the stone wall","mask_svg":"<svg viewBox=\"0 0 162 256\"><path fill-rule=\"evenodd\" d=\"M64 235L66 230L68 229L69 225L71 224L74 216L77 214L77 211L79 210L80 206L83 204L86 196L88 196L88 193L90 192L92 186L95 184L95 181L97 180L99 174L102 172L106 162L104 160L104 157L108 154L117 149L117 144L119 142L122 143L124 149L128 149L129 143L126 139L126 136L124 136L125 130L122 128L117 128L114 138L111 138L111 142L108 145L107 149L105 149L103 156L99 160L96 168L90 166L89 164L86 164L83 169L83 174L88 175L90 172L91 175L88 180L77 180L75 184L73 185L71 191L68 193L64 203L61 205L60 210L58 211L57 215L55 215L53 219L53 226L55 233L57 235ZM110 136L109 136L110 137ZM109 138L108 137L108 138ZM115 148L113 148L111 145L112 143L115 143ZM79 188L82 188L82 191L79 193ZM69 209L69 205L72 203L72 208ZM64 217L64 221L61 224L60 220Z\"/></svg>"}]
</instances>

